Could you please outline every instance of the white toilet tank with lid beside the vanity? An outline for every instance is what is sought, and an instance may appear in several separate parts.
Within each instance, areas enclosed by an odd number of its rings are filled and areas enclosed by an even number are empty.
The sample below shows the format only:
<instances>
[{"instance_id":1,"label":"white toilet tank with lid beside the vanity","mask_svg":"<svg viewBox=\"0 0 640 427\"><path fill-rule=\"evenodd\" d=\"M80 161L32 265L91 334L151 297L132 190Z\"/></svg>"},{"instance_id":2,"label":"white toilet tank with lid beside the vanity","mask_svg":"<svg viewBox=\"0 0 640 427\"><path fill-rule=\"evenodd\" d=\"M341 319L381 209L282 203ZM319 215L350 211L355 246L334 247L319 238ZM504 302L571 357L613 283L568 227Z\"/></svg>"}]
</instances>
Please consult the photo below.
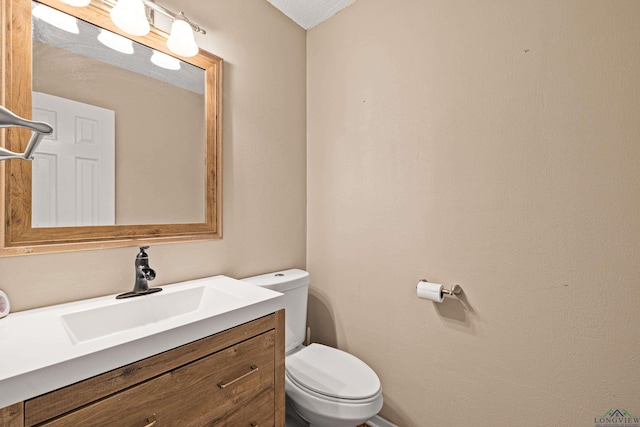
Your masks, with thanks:
<instances>
[{"instance_id":1,"label":"white toilet tank with lid beside the vanity","mask_svg":"<svg viewBox=\"0 0 640 427\"><path fill-rule=\"evenodd\" d=\"M242 281L284 294L285 352L302 345L307 330L309 273L294 268L247 277Z\"/></svg>"}]
</instances>

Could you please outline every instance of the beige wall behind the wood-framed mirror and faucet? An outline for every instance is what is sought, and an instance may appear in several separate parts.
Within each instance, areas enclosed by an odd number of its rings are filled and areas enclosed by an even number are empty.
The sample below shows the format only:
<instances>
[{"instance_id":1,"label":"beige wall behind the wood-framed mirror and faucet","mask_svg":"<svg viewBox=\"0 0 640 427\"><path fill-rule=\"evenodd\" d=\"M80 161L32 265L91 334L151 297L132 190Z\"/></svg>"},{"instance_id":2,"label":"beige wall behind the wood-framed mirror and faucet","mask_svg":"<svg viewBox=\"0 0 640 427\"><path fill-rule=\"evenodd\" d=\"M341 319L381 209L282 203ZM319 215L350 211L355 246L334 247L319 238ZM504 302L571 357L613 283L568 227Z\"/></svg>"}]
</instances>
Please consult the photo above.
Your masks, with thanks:
<instances>
[{"instance_id":1,"label":"beige wall behind the wood-framed mirror and faucet","mask_svg":"<svg viewBox=\"0 0 640 427\"><path fill-rule=\"evenodd\" d=\"M225 59L222 241L157 245L153 285L305 267L305 32L267 2L163 2ZM137 248L0 259L13 309L128 291Z\"/></svg>"}]
</instances>

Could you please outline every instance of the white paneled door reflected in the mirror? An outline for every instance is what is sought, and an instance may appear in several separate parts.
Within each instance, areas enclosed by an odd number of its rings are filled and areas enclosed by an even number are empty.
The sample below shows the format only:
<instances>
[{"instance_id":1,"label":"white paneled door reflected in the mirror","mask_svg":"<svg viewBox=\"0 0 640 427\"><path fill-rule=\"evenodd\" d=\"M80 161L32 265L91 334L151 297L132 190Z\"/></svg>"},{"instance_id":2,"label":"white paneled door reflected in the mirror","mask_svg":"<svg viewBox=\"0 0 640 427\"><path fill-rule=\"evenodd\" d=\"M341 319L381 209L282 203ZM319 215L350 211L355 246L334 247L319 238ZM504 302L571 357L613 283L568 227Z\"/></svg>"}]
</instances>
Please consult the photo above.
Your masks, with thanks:
<instances>
[{"instance_id":1,"label":"white paneled door reflected in the mirror","mask_svg":"<svg viewBox=\"0 0 640 427\"><path fill-rule=\"evenodd\" d=\"M33 92L53 126L33 160L33 227L115 224L115 112Z\"/></svg>"}]
</instances>

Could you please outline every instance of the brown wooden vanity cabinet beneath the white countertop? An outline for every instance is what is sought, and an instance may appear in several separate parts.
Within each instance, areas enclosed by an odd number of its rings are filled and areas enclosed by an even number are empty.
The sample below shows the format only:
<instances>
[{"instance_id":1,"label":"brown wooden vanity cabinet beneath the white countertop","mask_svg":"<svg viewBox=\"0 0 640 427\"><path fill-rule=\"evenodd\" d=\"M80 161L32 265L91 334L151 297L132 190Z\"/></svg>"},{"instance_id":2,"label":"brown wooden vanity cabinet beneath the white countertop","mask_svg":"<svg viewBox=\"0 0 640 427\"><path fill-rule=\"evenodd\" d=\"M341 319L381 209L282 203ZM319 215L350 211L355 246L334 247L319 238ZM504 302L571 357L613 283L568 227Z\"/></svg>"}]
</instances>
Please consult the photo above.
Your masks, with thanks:
<instances>
[{"instance_id":1,"label":"brown wooden vanity cabinet beneath the white countertop","mask_svg":"<svg viewBox=\"0 0 640 427\"><path fill-rule=\"evenodd\" d=\"M0 410L0 425L284 426L284 311Z\"/></svg>"}]
</instances>

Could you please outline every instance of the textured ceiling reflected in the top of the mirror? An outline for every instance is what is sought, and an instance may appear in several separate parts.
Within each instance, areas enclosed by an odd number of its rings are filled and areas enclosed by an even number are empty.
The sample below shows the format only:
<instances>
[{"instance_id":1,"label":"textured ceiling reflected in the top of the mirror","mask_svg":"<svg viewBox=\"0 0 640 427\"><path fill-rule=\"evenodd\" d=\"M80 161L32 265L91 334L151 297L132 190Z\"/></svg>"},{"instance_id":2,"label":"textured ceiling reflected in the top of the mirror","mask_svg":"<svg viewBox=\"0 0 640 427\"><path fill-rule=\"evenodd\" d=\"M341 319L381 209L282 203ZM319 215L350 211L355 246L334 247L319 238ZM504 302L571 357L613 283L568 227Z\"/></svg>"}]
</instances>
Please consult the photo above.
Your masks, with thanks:
<instances>
[{"instance_id":1,"label":"textured ceiling reflected in the top of the mirror","mask_svg":"<svg viewBox=\"0 0 640 427\"><path fill-rule=\"evenodd\" d=\"M195 93L204 93L204 70L180 61L180 70L167 70L151 62L153 50L133 43L134 53L116 52L98 41L99 28L78 20L80 34L71 34L33 18L33 39L78 55L115 65Z\"/></svg>"}]
</instances>

